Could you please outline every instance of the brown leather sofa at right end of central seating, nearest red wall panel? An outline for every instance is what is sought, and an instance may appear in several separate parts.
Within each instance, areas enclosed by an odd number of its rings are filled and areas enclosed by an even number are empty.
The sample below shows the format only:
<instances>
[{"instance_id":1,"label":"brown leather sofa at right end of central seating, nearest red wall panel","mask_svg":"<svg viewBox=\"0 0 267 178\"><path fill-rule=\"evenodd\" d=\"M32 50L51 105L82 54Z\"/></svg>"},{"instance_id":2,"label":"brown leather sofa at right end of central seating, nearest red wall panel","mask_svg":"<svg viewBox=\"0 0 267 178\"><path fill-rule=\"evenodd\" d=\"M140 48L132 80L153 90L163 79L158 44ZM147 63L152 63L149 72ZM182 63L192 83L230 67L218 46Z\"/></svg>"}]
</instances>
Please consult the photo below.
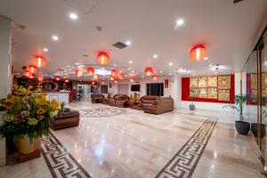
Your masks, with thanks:
<instances>
[{"instance_id":1,"label":"brown leather sofa at right end of central seating, nearest red wall panel","mask_svg":"<svg viewBox=\"0 0 267 178\"><path fill-rule=\"evenodd\" d=\"M158 97L156 100L144 100L146 103L142 103L144 112L152 114L161 114L174 110L174 99L171 97Z\"/></svg>"}]
</instances>

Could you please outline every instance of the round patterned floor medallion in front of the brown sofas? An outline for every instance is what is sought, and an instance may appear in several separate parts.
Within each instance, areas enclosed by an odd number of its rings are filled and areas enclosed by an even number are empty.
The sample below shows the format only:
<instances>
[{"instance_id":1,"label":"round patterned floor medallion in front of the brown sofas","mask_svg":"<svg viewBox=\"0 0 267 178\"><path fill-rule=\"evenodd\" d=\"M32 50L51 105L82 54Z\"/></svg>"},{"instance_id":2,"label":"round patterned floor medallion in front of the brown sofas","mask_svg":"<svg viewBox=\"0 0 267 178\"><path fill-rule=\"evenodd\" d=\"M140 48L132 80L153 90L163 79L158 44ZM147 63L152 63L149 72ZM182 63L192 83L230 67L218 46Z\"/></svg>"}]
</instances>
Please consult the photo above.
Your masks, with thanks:
<instances>
[{"instance_id":1,"label":"round patterned floor medallion in front of the brown sofas","mask_svg":"<svg viewBox=\"0 0 267 178\"><path fill-rule=\"evenodd\" d=\"M101 107L92 109L80 109L79 113L83 117L113 117L124 114L126 109Z\"/></svg>"}]
</instances>

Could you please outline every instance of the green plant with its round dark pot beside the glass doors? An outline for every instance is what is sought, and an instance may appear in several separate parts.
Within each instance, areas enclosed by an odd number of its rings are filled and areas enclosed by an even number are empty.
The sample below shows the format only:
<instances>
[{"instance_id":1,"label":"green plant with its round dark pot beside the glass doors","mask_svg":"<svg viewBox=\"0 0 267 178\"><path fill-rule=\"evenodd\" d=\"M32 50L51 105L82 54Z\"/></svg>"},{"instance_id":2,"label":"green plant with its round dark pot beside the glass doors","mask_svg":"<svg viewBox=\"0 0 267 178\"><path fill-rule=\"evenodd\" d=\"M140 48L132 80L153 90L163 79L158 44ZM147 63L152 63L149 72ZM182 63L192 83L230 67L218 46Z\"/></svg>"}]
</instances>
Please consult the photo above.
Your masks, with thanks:
<instances>
[{"instance_id":1,"label":"green plant with its round dark pot beside the glass doors","mask_svg":"<svg viewBox=\"0 0 267 178\"><path fill-rule=\"evenodd\" d=\"M247 101L247 96L244 94L236 95L234 97L234 104L229 104L223 108L230 108L239 114L239 120L235 121L236 129L239 134L247 135L250 129L250 124L244 121L243 109L245 102Z\"/></svg>"}]
</instances>

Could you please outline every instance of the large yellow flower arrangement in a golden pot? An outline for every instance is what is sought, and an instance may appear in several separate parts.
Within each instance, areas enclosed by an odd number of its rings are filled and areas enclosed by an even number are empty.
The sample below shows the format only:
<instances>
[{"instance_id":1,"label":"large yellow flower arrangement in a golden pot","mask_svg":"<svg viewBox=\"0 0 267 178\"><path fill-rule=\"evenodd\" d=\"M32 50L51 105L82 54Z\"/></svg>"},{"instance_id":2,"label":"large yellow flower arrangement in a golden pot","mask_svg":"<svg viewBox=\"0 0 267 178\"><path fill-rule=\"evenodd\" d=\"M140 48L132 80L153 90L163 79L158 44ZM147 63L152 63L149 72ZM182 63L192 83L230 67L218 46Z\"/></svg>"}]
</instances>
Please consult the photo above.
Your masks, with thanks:
<instances>
[{"instance_id":1,"label":"large yellow flower arrangement in a golden pot","mask_svg":"<svg viewBox=\"0 0 267 178\"><path fill-rule=\"evenodd\" d=\"M20 154L40 149L41 137L49 132L49 120L60 109L58 101L47 101L45 93L32 89L14 85L12 94L1 102L6 111L0 135L13 142Z\"/></svg>"}]
</instances>

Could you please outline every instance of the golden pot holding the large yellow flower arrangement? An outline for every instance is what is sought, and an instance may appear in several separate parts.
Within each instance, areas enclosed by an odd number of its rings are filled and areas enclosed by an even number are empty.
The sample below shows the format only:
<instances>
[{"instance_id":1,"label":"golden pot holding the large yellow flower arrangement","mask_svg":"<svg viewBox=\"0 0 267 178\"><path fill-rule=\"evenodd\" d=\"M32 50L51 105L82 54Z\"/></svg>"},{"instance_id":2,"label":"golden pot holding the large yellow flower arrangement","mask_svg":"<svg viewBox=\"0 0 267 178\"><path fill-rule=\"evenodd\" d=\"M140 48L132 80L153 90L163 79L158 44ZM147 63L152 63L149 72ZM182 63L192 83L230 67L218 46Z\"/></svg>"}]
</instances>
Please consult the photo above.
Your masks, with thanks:
<instances>
[{"instance_id":1,"label":"golden pot holding the large yellow flower arrangement","mask_svg":"<svg viewBox=\"0 0 267 178\"><path fill-rule=\"evenodd\" d=\"M28 134L13 138L13 142L20 154L29 154L36 150L40 150L41 147L41 138L30 138L28 137Z\"/></svg>"}]
</instances>

